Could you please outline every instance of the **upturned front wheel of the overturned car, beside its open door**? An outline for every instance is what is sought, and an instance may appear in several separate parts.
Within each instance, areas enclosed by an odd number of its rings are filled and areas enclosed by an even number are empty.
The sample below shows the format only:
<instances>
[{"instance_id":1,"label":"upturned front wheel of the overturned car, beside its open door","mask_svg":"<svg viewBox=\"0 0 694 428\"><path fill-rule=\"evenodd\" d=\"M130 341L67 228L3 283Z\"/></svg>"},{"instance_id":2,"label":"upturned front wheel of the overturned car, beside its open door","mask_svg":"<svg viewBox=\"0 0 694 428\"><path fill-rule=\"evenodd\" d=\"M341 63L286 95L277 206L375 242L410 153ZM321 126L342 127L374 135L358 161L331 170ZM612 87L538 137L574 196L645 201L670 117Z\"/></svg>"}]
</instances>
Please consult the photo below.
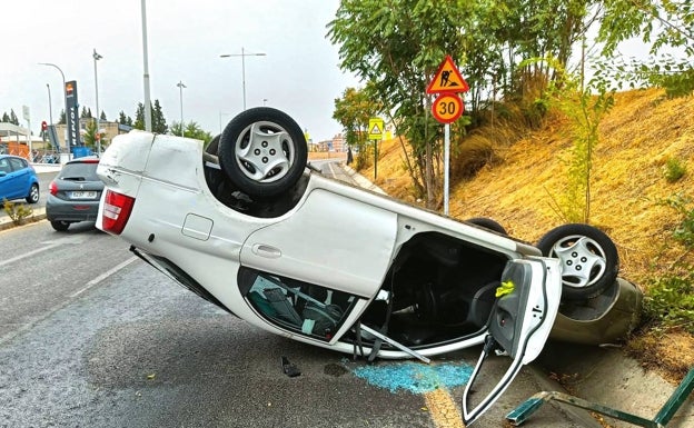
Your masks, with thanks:
<instances>
[{"instance_id":1,"label":"upturned front wheel of the overturned car, beside its open door","mask_svg":"<svg viewBox=\"0 0 694 428\"><path fill-rule=\"evenodd\" d=\"M544 256L562 261L562 296L595 297L612 286L619 271L617 247L603 231L582 223L559 226L537 242Z\"/></svg>"}]
</instances>

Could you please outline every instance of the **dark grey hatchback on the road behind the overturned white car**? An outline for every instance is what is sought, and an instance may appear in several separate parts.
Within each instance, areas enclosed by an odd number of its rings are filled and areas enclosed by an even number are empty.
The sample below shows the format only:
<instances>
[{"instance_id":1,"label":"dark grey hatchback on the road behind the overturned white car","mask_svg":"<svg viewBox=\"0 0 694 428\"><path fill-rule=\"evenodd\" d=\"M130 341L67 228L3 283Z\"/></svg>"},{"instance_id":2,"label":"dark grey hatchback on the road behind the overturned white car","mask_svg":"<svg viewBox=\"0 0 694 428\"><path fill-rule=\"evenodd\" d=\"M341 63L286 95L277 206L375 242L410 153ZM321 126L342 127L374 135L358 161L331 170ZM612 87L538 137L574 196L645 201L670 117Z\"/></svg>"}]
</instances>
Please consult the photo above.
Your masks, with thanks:
<instances>
[{"instance_id":1,"label":"dark grey hatchback on the road behind the overturned white car","mask_svg":"<svg viewBox=\"0 0 694 428\"><path fill-rule=\"evenodd\" d=\"M103 181L97 176L99 158L83 157L67 162L49 185L46 217L57 231L78 221L96 221Z\"/></svg>"}]
</instances>

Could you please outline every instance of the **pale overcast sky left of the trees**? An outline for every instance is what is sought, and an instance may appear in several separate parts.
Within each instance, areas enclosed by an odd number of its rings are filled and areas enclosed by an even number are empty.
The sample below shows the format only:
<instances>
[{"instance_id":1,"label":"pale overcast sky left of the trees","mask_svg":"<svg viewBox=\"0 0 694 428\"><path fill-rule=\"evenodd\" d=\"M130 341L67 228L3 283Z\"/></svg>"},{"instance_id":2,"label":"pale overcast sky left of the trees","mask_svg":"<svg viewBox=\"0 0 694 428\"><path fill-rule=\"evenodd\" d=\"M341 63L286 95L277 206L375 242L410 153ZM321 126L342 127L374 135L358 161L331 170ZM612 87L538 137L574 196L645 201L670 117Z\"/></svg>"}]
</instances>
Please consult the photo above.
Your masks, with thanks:
<instances>
[{"instance_id":1,"label":"pale overcast sky left of the trees","mask_svg":"<svg viewBox=\"0 0 694 428\"><path fill-rule=\"evenodd\" d=\"M359 84L338 67L337 47L326 24L339 0L147 0L147 34L152 103L159 99L167 123L184 121L219 133L244 108L240 57L245 57L247 107L266 104L289 113L315 141L341 127L331 119L334 100ZM93 49L99 110L117 120L122 110L135 120L143 102L142 16L140 0L11 0L0 22L0 115L13 109L22 126L22 106L31 129L53 122L65 108L60 72L76 80L80 106L96 115ZM81 111L81 108L80 108Z\"/></svg>"}]
</instances>

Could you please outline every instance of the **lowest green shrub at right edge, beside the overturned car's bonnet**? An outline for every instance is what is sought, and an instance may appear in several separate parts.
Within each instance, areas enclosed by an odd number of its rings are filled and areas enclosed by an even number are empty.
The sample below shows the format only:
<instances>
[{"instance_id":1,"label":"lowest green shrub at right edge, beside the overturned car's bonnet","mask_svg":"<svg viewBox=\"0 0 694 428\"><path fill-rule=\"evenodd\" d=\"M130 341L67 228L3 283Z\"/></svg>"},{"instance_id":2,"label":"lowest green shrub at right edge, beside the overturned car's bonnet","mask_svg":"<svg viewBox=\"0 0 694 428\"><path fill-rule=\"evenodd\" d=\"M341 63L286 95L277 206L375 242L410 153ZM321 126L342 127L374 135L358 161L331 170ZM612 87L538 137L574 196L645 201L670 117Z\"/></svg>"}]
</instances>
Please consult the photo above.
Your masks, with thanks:
<instances>
[{"instance_id":1,"label":"lowest green shrub at right edge, beside the overturned car's bonnet","mask_svg":"<svg viewBox=\"0 0 694 428\"><path fill-rule=\"evenodd\" d=\"M694 334L694 271L684 276L655 278L644 297L646 317L667 328L682 328Z\"/></svg>"}]
</instances>

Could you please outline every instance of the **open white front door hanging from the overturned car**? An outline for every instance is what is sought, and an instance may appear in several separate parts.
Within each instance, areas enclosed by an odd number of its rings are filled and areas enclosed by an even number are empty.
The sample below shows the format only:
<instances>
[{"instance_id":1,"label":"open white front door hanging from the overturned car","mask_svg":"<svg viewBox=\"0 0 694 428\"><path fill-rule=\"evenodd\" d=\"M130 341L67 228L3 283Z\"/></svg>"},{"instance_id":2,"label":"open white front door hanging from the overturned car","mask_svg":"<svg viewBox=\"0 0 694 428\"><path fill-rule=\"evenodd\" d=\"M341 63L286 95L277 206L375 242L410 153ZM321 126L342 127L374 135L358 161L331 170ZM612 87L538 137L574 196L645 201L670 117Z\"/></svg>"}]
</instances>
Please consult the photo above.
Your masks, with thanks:
<instances>
[{"instance_id":1,"label":"open white front door hanging from the overturned car","mask_svg":"<svg viewBox=\"0 0 694 428\"><path fill-rule=\"evenodd\" d=\"M561 267L557 260L533 258L512 260L506 265L487 325L484 349L463 394L463 421L466 426L504 394L523 366L537 358L556 318L561 295ZM490 392L468 411L468 394L492 351L507 355L513 361Z\"/></svg>"}]
</instances>

